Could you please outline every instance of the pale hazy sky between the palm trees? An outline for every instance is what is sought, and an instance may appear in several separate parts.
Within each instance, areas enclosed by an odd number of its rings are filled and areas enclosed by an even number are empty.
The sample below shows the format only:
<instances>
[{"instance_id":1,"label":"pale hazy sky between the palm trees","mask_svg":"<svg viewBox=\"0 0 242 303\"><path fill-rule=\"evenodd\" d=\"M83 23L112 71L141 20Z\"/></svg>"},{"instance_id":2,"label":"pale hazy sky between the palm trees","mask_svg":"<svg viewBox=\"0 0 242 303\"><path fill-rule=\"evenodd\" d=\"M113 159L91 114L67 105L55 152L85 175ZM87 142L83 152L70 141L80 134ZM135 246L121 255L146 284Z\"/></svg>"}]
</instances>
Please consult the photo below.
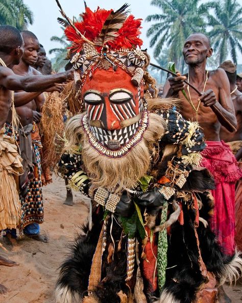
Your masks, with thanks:
<instances>
[{"instance_id":1,"label":"pale hazy sky between the palm trees","mask_svg":"<svg viewBox=\"0 0 242 303\"><path fill-rule=\"evenodd\" d=\"M23 1L34 14L34 24L29 26L29 30L34 32L39 39L39 42L44 46L46 53L49 53L49 50L52 48L60 47L54 41L51 41L52 36L61 37L63 31L60 28L60 24L57 21L57 17L60 17L59 8L55 0L24 0ZM78 15L84 12L84 2L83 0L59 0L63 10L68 17L72 18L73 16L78 17ZM153 50L149 47L149 39L146 37L146 32L151 26L151 23L145 21L148 15L154 14L157 12L157 8L150 5L150 0L86 0L87 6L91 10L95 10L98 6L104 9L118 9L125 2L130 4L131 13L135 18L142 18L142 29L141 29L141 39L143 40L143 49L147 48L150 55L152 55ZM206 2L205 0L202 2ZM238 0L242 3L242 0ZM159 10L160 12L160 10ZM48 54L49 57L52 57ZM152 60L154 61L154 59ZM238 63L242 63L242 56L238 56Z\"/></svg>"}]
</instances>

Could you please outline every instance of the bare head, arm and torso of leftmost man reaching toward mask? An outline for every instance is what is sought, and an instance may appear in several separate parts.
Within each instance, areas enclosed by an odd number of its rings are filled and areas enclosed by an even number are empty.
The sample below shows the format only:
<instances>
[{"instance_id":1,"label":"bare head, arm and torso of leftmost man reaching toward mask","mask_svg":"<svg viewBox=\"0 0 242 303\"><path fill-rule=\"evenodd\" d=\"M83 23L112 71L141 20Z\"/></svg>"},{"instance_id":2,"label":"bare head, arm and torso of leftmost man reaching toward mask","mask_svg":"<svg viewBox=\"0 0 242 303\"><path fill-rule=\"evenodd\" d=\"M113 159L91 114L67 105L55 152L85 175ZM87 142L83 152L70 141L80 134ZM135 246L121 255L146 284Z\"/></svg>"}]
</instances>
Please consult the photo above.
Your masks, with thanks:
<instances>
[{"instance_id":1,"label":"bare head, arm and torso of leftmost man reaching toward mask","mask_svg":"<svg viewBox=\"0 0 242 303\"><path fill-rule=\"evenodd\" d=\"M12 101L10 90L26 90L28 92L35 92L42 90L43 88L50 88L55 82L64 82L67 79L72 79L73 75L71 72L65 72L49 77L22 77L15 75L11 69L14 64L19 63L23 54L22 36L19 30L15 27L6 25L0 26L0 33L0 129L2 129L7 120ZM15 182L10 184L10 186L15 188L17 191ZM18 264L7 260L4 257L0 257L0 265L17 266ZM6 293L6 291L6 287L0 285L0 294Z\"/></svg>"}]
</instances>

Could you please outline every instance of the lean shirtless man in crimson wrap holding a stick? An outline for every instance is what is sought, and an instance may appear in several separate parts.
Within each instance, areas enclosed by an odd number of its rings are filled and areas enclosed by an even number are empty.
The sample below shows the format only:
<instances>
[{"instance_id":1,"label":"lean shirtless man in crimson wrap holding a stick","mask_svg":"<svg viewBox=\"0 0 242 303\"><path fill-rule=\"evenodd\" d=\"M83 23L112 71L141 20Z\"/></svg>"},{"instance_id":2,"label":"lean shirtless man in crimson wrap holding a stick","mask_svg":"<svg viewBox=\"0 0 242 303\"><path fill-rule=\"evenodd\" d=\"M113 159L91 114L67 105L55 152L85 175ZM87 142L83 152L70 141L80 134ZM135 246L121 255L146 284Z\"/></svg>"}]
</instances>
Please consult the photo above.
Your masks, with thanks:
<instances>
[{"instance_id":1,"label":"lean shirtless man in crimson wrap holding a stick","mask_svg":"<svg viewBox=\"0 0 242 303\"><path fill-rule=\"evenodd\" d=\"M188 64L188 75L170 77L164 89L164 97L179 97L182 102L180 112L187 120L198 121L207 140L207 148L203 152L203 166L214 176L216 188L212 190L214 197L214 215L210 226L217 235L217 240L225 254L233 255L234 242L234 203L235 182L240 177L240 171L234 163L230 148L220 141L221 125L232 132L236 128L236 117L230 85L226 73L222 69L206 71L207 58L212 55L212 48L207 36L203 34L190 35L183 47L183 56ZM202 93L189 88L184 80ZM185 90L187 99L181 90ZM230 302L223 290L220 292L220 302Z\"/></svg>"}]
</instances>

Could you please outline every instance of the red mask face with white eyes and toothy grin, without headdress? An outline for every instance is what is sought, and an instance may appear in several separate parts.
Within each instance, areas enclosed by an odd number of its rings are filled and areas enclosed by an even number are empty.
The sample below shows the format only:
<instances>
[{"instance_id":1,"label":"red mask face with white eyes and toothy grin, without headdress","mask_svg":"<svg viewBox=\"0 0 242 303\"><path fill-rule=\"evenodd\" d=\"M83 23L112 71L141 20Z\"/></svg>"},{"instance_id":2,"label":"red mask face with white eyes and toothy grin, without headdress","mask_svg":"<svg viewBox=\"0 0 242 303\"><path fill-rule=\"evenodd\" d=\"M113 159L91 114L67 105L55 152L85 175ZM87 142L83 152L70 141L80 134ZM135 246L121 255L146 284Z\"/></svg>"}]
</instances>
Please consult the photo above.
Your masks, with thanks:
<instances>
[{"instance_id":1,"label":"red mask face with white eyes and toothy grin, without headdress","mask_svg":"<svg viewBox=\"0 0 242 303\"><path fill-rule=\"evenodd\" d=\"M135 86L131 76L119 67L115 72L112 68L98 68L81 90L86 109L82 123L91 146L104 156L110 156L112 150L119 157L126 155L141 140L149 124L143 104L143 81Z\"/></svg>"}]
</instances>

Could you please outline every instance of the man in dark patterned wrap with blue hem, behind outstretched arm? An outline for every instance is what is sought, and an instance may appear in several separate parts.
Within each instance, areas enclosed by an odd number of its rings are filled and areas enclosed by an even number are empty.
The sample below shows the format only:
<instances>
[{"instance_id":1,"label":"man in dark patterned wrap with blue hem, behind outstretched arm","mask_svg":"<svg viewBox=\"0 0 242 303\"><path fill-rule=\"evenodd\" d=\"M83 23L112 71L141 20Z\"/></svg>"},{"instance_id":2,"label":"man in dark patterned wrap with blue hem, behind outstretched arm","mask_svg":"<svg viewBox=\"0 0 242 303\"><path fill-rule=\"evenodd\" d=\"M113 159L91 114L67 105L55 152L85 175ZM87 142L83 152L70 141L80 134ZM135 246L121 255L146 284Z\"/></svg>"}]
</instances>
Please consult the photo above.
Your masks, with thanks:
<instances>
[{"instance_id":1,"label":"man in dark patterned wrap with blue hem, behind outstretched arm","mask_svg":"<svg viewBox=\"0 0 242 303\"><path fill-rule=\"evenodd\" d=\"M40 48L37 37L29 31L21 32L23 41L25 42L23 56L18 65L13 67L13 71L17 75L21 76L36 76L41 75L32 66L38 59L38 51ZM56 84L53 88L47 91L60 91L60 85ZM18 114L20 123L25 131L25 136L29 138L33 136L33 132L36 134L36 125L33 126L33 121L38 121L40 118L41 107L45 101L42 92L26 93L15 92L15 105L16 112ZM24 103L23 103L24 102ZM33 106L34 110L33 111ZM9 113L7 122L11 122L11 112ZM34 129L33 129L34 127ZM34 136L33 136L34 137ZM25 167L24 174L20 177L21 186L21 203L23 208L23 232L34 240L47 242L47 237L40 235L39 223L43 222L43 199L42 199L42 184L41 184L41 166L40 166L40 151L41 147L40 138L32 138L32 150L34 150L34 158L31 152L31 138L28 144L29 153L26 150L21 150L21 155L28 155L28 159L24 163L28 162L29 165ZM25 144L25 147L27 145ZM34 169L32 168L32 161ZM33 174L30 177L29 173L32 170ZM34 175L34 176L33 176ZM15 231L11 230L12 237L16 237ZM9 236L9 235L8 235Z\"/></svg>"}]
</instances>

